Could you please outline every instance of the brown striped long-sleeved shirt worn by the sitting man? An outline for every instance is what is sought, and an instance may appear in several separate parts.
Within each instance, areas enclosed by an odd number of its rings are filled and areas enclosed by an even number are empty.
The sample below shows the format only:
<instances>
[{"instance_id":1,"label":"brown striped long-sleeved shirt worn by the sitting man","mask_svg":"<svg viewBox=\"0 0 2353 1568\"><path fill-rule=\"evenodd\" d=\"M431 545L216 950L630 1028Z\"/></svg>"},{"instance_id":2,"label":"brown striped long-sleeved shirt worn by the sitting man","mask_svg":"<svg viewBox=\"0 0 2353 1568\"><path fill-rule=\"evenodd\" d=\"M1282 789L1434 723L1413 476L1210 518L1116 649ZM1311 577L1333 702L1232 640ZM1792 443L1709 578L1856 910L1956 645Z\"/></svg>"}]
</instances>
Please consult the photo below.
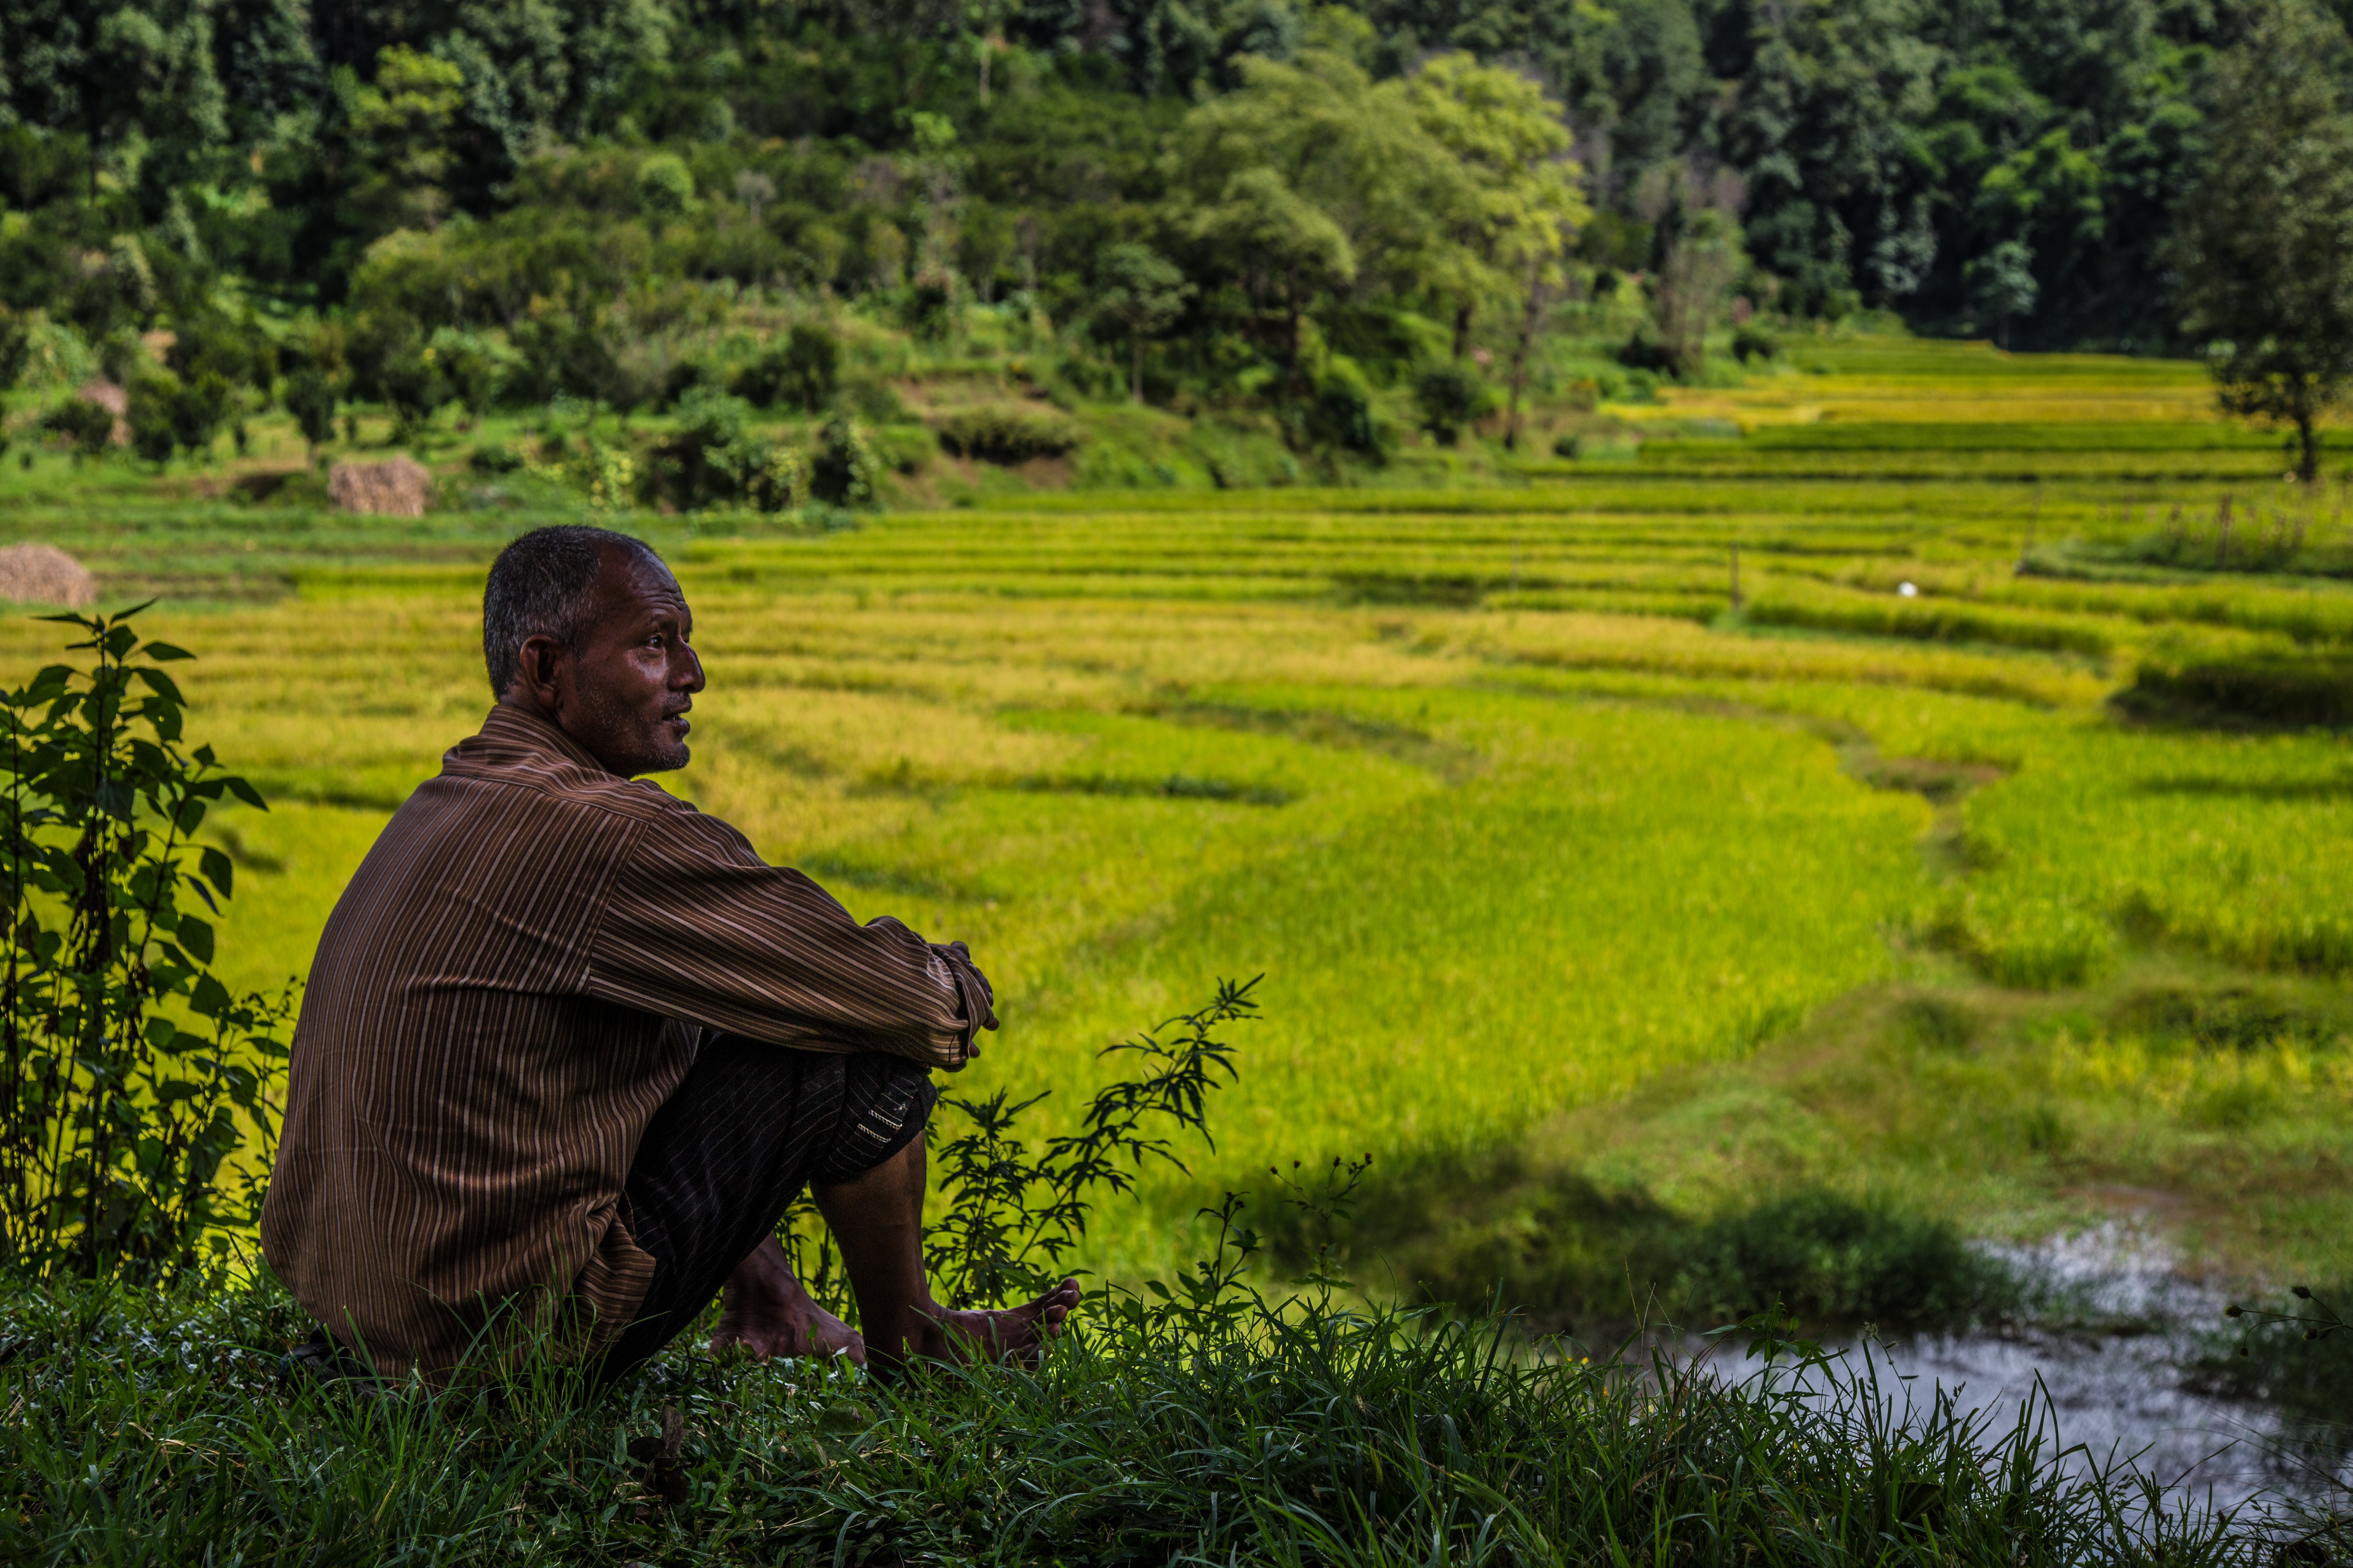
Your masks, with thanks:
<instances>
[{"instance_id":1,"label":"brown striped long-sleeved shirt worn by the sitting man","mask_svg":"<svg viewBox=\"0 0 2353 1568\"><path fill-rule=\"evenodd\" d=\"M456 1361L496 1302L567 1307L595 1349L654 1269L621 1182L701 1030L953 1070L976 1025L995 1018L962 943L856 924L501 705L327 919L261 1246L388 1373Z\"/></svg>"}]
</instances>

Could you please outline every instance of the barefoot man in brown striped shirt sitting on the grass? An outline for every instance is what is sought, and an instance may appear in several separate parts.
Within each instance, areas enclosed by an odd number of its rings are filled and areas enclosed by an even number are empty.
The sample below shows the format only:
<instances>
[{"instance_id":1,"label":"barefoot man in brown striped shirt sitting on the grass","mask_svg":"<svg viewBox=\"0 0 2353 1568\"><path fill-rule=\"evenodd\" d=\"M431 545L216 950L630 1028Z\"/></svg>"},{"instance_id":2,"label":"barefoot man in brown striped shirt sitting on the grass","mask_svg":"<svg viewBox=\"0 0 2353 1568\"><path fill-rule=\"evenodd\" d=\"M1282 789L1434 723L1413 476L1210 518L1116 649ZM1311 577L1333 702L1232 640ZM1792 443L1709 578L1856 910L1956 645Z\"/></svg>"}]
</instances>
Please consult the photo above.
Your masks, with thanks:
<instances>
[{"instance_id":1,"label":"barefoot man in brown striped shirt sitting on the grass","mask_svg":"<svg viewBox=\"0 0 2353 1568\"><path fill-rule=\"evenodd\" d=\"M861 926L633 783L687 764L692 630L661 557L621 534L539 529L499 555L496 708L320 936L264 1253L386 1375L546 1333L614 1378L722 1286L713 1347L1033 1361L1075 1281L948 1312L922 1276L929 1070L998 1027L988 980L962 943ZM864 1342L776 1246L802 1185Z\"/></svg>"}]
</instances>

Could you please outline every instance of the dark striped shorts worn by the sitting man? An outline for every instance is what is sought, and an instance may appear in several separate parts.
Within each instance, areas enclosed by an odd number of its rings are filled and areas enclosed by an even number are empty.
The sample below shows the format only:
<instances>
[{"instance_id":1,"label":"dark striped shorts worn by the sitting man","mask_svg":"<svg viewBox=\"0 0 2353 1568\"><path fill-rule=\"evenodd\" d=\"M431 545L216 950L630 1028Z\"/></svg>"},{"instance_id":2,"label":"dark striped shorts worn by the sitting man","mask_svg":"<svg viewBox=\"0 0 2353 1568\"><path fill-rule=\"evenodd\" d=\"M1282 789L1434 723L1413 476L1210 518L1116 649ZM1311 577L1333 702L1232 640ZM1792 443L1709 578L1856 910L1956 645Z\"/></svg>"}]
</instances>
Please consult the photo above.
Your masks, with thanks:
<instances>
[{"instance_id":1,"label":"dark striped shorts worn by the sitting man","mask_svg":"<svg viewBox=\"0 0 2353 1568\"><path fill-rule=\"evenodd\" d=\"M685 1333L802 1187L864 1175L920 1138L936 1095L932 1072L901 1056L704 1041L628 1168L628 1227L654 1255L654 1284L602 1378Z\"/></svg>"}]
</instances>

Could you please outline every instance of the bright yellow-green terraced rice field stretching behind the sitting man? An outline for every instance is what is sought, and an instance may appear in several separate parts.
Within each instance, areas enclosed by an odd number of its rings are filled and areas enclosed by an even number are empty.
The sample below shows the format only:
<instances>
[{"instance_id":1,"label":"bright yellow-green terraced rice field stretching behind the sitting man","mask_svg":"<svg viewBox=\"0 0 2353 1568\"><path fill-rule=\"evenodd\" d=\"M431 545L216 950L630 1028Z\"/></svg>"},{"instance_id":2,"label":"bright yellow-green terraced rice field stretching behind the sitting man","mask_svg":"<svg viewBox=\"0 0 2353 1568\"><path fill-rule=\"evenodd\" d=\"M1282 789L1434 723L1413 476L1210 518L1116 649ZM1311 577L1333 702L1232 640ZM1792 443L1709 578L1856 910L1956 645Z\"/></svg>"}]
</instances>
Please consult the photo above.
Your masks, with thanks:
<instances>
[{"instance_id":1,"label":"bright yellow-green terraced rice field stretching behind the sitting man","mask_svg":"<svg viewBox=\"0 0 2353 1568\"><path fill-rule=\"evenodd\" d=\"M1791 357L1478 487L621 517L711 672L664 783L967 940L1005 1027L960 1088L1047 1117L1264 973L1217 1150L1104 1218L1120 1279L1268 1166L1362 1154L1362 1281L1572 1319L1640 1284L1628 1215L1824 1194L2353 1274L2346 484L2285 484L2191 364ZM214 818L242 985L304 971L480 722L496 543L584 515L454 475L424 520L341 517L273 491L299 449L259 430L195 480L0 470L0 534L165 592L195 738L273 799ZM56 642L7 623L7 677ZM2198 705L2200 670L2306 696Z\"/></svg>"}]
</instances>

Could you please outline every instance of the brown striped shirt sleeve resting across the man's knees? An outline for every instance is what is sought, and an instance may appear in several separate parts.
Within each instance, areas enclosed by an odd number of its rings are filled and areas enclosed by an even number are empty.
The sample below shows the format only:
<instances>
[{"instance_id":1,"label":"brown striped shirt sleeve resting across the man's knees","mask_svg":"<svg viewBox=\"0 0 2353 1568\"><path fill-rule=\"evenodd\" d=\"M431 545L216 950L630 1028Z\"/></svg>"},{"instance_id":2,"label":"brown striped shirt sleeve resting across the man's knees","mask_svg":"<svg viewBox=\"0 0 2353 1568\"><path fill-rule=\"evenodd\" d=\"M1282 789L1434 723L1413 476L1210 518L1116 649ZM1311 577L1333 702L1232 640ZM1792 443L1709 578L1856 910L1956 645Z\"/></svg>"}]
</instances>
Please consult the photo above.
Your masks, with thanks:
<instances>
[{"instance_id":1,"label":"brown striped shirt sleeve resting across the man's knees","mask_svg":"<svg viewBox=\"0 0 2353 1568\"><path fill-rule=\"evenodd\" d=\"M588 943L586 994L800 1051L948 1070L998 1027L962 943L932 945L896 919L861 926L708 816L666 813L633 837Z\"/></svg>"}]
</instances>

